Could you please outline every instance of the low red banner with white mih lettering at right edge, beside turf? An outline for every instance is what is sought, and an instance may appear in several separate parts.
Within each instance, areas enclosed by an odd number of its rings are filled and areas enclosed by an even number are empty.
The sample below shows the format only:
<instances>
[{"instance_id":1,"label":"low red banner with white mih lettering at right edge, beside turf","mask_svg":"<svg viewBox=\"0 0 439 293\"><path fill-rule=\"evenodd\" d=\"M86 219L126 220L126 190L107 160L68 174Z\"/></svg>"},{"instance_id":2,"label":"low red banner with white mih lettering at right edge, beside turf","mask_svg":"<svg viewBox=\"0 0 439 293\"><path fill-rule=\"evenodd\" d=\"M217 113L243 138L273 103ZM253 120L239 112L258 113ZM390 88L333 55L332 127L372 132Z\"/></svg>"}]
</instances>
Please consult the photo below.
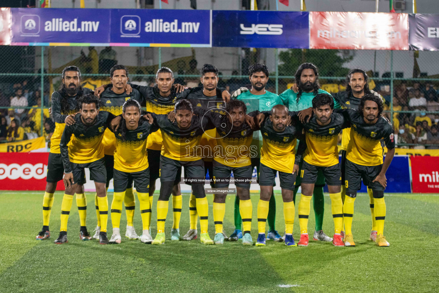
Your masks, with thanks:
<instances>
[{"instance_id":1,"label":"low red banner with white mih lettering at right edge, beside turf","mask_svg":"<svg viewBox=\"0 0 439 293\"><path fill-rule=\"evenodd\" d=\"M439 192L439 157L411 156L413 192Z\"/></svg>"}]
</instances>

